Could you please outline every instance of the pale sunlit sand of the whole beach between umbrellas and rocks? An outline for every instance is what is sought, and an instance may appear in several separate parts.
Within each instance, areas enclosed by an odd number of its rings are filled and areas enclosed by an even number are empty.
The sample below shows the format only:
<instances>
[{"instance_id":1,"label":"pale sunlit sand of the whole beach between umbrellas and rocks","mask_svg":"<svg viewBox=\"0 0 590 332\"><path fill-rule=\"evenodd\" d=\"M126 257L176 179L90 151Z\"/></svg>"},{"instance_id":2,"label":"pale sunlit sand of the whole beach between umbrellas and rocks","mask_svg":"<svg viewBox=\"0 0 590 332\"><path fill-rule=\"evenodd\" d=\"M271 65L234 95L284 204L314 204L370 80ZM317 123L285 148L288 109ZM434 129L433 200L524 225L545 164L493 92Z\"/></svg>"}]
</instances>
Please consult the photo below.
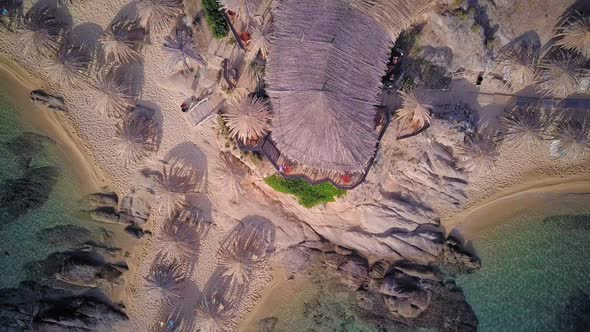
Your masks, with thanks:
<instances>
[{"instance_id":1,"label":"pale sunlit sand of the whole beach between umbrellas and rocks","mask_svg":"<svg viewBox=\"0 0 590 332\"><path fill-rule=\"evenodd\" d=\"M27 2L25 11L31 5ZM75 1L68 5L67 12L73 29L93 31L89 38L96 43L114 17L128 9L129 5L123 0ZM221 265L221 245L232 232L240 230L244 220L254 216L272 220L273 223L277 221L275 224L280 224L276 230L277 247L287 248L309 239L319 242L320 235L346 246L349 239L342 234L363 226L361 213L355 208L361 206L362 199L358 196L364 193L359 189L327 207L305 209L293 197L274 192L265 185L263 175L273 171L273 168L262 162L262 171L248 176L244 197L229 199L226 179L218 166L220 152L228 148L216 118L194 128L179 107L187 96L162 87L161 82L171 74L162 65L168 61L162 45L172 29L170 24L162 31L152 31L149 43L141 50L142 61L134 64L137 71L134 83L140 91L137 103L155 111L154 118L162 132L158 151L141 163L125 165L120 151L114 146L116 124L121 119L103 117L95 110L91 86L94 78L79 80L76 88L61 85L48 76L46 67L50 62L47 58L23 56L18 35L4 31L0 35L0 81L14 84L11 86L14 103L30 108L32 122L58 142L64 151L64 158L76 165L75 176L84 183L86 191L106 188L123 197L136 190L145 190L147 184L143 171L147 168L160 170L162 165L173 160L182 160L198 170L199 190L189 198L203 218L213 225L206 237L199 241L198 259L193 262L194 268L187 276L181 303L184 315L190 321L187 329L198 330L201 322L195 316L195 308L202 299L203 291L215 288L215 278L219 277ZM210 43L199 45L199 48L208 52L207 55L214 60L239 52L237 46L229 46L229 43L205 42ZM93 72L97 70L92 69ZM62 96L68 111L52 112L32 105L29 92L35 89ZM467 102L481 113L482 118L496 124L505 107L505 100L490 96L472 97L459 93L454 97L468 99ZM386 156L383 157L386 159L388 153L389 156L395 155L391 142L396 142L393 137L384 141L378 157ZM583 202L590 199L590 157L577 161L551 160L548 158L548 142L545 143L528 151L514 151L501 146L494 173L469 178L465 187L465 202L457 206L434 204L432 208L440 214L441 226L446 232L457 231L469 240L509 216L527 209L538 209L556 199L571 200L572 205L583 206ZM370 171L367 177L370 184L379 183L381 176L388 178L389 173L377 174L381 171ZM113 294L113 299L125 304L130 320L118 330L146 331L162 323L161 317L165 315L167 306L150 292L146 275L160 249L154 240L161 235L161 227L168 219L168 211L154 200L145 228L151 235L139 240L129 238L129 245L133 247L127 257L129 271L125 273L123 290ZM371 233L367 237L374 235ZM363 253L362 241L349 242L352 243L351 249ZM270 315L273 308L290 301L291 296L305 287L305 279L287 280L287 277L286 272L273 267L269 261L263 262L253 272L247 285L240 289L239 302L232 303L235 310L224 322L224 329L254 331L259 319Z\"/></svg>"}]
</instances>

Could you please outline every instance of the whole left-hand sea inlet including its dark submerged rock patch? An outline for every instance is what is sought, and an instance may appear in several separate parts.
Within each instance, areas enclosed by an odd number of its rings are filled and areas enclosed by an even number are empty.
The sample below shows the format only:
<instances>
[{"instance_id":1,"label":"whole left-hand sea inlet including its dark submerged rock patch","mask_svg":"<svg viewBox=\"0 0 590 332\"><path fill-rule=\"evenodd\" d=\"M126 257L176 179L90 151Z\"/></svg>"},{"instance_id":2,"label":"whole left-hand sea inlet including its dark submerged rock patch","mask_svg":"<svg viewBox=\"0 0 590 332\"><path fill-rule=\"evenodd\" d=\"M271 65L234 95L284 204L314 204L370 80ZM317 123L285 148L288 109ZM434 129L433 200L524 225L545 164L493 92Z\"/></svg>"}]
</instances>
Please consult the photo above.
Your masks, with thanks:
<instances>
[{"instance_id":1,"label":"whole left-hand sea inlet including its dark submerged rock patch","mask_svg":"<svg viewBox=\"0 0 590 332\"><path fill-rule=\"evenodd\" d=\"M73 249L84 240L113 245L116 238L112 229L82 211L88 192L76 165L67 161L72 158L51 133L31 121L43 110L11 102L6 85L0 85L0 288L34 279L27 267L55 251ZM15 195L26 192L15 190L19 186L31 189L33 194L26 195L37 195L36 203L14 204Z\"/></svg>"}]
</instances>

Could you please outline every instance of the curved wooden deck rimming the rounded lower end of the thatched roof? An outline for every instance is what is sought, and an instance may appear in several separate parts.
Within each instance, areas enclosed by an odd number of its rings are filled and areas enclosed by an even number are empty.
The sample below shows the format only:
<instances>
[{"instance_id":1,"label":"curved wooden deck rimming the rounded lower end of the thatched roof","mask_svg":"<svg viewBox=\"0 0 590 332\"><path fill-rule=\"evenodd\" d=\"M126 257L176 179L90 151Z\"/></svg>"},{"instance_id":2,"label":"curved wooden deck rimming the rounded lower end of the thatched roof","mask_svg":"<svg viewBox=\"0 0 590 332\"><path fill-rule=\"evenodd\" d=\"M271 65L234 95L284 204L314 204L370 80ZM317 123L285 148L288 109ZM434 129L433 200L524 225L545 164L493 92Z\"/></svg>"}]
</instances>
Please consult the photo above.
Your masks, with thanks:
<instances>
[{"instance_id":1,"label":"curved wooden deck rimming the rounded lower end of the thatched roof","mask_svg":"<svg viewBox=\"0 0 590 332\"><path fill-rule=\"evenodd\" d=\"M385 133L388 124L389 116L387 112L385 110L379 111L378 116L375 119L375 130L379 133L379 141ZM281 154L279 149L277 149L272 141L271 135L247 143L237 141L237 144L243 151L252 151L262 154L271 162L271 164L273 164L277 172L285 178L302 179L314 185L329 182L336 188L344 190L354 189L361 184L375 159L375 157L373 157L369 160L364 172L329 171L308 167L288 159ZM377 143L377 148L378 147L379 143Z\"/></svg>"}]
</instances>

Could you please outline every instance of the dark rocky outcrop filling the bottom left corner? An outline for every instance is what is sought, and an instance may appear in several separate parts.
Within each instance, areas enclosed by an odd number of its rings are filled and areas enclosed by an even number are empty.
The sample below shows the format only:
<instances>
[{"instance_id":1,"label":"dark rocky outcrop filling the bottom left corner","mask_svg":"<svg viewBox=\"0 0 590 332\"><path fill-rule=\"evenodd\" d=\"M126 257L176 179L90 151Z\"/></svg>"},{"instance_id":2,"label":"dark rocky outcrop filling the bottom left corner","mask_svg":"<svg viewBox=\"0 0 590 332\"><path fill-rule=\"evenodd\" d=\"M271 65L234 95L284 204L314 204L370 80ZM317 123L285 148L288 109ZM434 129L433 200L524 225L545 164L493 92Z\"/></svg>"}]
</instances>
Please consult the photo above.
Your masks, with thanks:
<instances>
[{"instance_id":1,"label":"dark rocky outcrop filling the bottom left corner","mask_svg":"<svg viewBox=\"0 0 590 332\"><path fill-rule=\"evenodd\" d=\"M7 331L110 331L127 319L100 296L34 282L0 289L0 326Z\"/></svg>"}]
</instances>

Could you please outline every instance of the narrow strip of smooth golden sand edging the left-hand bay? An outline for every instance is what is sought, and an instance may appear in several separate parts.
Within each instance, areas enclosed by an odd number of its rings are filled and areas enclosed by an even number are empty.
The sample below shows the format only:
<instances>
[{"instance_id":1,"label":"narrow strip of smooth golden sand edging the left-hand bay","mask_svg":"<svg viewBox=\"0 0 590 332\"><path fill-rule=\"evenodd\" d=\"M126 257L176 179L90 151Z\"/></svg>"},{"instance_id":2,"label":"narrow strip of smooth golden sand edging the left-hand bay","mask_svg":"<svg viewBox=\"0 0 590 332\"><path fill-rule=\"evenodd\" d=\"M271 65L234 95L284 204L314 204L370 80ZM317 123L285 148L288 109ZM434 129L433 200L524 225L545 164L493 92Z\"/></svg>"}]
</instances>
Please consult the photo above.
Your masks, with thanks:
<instances>
[{"instance_id":1,"label":"narrow strip of smooth golden sand edging the left-hand bay","mask_svg":"<svg viewBox=\"0 0 590 332\"><path fill-rule=\"evenodd\" d=\"M82 141L78 130L68 122L67 116L30 102L29 93L40 88L40 82L29 77L25 69L5 57L0 57L0 82L3 85L15 83L7 88L10 91L7 98L14 106L23 110L22 115L30 125L56 142L60 157L72 166L83 192L97 192L110 184L94 162L94 157Z\"/></svg>"}]
</instances>

